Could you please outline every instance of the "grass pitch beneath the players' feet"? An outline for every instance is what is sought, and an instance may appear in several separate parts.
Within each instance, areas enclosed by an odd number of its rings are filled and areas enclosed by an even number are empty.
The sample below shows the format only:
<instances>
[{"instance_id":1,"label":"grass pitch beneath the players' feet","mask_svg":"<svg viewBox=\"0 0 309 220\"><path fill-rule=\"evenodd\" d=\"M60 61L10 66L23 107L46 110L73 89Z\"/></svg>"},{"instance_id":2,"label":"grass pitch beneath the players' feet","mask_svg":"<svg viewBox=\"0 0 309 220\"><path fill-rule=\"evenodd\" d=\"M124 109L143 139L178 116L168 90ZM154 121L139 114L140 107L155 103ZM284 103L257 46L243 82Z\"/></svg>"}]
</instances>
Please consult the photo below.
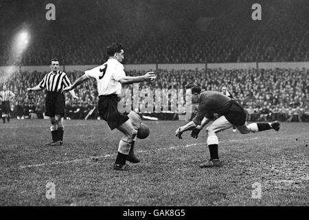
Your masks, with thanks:
<instances>
[{"instance_id":1,"label":"grass pitch beneath the players' feet","mask_svg":"<svg viewBox=\"0 0 309 220\"><path fill-rule=\"evenodd\" d=\"M145 121L137 140L139 164L112 169L119 131L98 120L64 121L62 146L51 140L48 120L0 124L0 206L308 206L309 124L282 123L274 130L218 133L220 168L199 168L209 159L206 133L183 140L179 121ZM47 199L47 183L55 198ZM254 199L253 184L261 186Z\"/></svg>"}]
</instances>

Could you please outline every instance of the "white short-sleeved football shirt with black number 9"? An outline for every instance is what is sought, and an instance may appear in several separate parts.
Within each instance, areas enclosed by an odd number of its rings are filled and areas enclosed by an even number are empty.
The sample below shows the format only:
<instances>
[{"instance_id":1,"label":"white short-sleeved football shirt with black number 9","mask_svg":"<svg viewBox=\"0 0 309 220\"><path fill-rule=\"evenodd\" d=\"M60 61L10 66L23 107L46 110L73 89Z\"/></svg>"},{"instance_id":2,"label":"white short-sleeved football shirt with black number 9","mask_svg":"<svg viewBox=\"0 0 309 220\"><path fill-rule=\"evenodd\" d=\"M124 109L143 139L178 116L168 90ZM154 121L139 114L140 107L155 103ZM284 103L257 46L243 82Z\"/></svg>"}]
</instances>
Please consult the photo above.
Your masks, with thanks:
<instances>
[{"instance_id":1,"label":"white short-sleeved football shirt with black number 9","mask_svg":"<svg viewBox=\"0 0 309 220\"><path fill-rule=\"evenodd\" d=\"M93 69L87 70L84 74L90 78L95 78L98 83L99 96L106 96L110 94L117 94L118 96L122 91L122 84L119 80L126 76L124 72L124 65L117 60L111 58L102 65Z\"/></svg>"}]
</instances>

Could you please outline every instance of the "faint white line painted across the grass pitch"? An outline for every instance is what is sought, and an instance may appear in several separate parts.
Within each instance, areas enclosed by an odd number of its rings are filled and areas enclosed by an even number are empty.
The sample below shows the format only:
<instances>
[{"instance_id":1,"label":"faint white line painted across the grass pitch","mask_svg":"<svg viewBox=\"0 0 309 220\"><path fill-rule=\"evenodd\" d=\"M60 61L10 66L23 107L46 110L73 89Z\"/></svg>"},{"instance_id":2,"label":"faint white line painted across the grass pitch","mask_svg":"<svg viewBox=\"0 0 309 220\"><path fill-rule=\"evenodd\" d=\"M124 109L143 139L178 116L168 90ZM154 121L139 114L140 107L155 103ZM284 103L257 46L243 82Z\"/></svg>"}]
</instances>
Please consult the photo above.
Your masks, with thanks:
<instances>
[{"instance_id":1,"label":"faint white line painted across the grass pitch","mask_svg":"<svg viewBox=\"0 0 309 220\"><path fill-rule=\"evenodd\" d=\"M258 140L258 137L253 137L253 138L247 138L247 139L235 139L235 140L228 140L228 141L222 141L220 143L226 143L226 142L237 142L237 141L248 141L248 140ZM188 147L196 147L196 146L201 146L205 145L206 143L196 143L196 144L187 144L185 146L183 145L176 145L176 146L170 146L169 148L157 148L155 150L140 150L137 151L137 153L144 153L144 152L149 152L149 151L168 151L168 150L174 150L177 148L188 148ZM75 162L83 162L91 159L100 159L100 158L106 158L106 157L115 157L117 154L106 154L98 157L87 157L87 158L82 158L82 159L71 159L67 160L65 162L51 162L51 163L43 163L43 164L32 164L32 165L27 165L27 166L19 166L19 168L32 168L32 167L38 167L38 166L50 166L50 165L59 165L59 164L70 164L70 163L75 163Z\"/></svg>"}]
</instances>

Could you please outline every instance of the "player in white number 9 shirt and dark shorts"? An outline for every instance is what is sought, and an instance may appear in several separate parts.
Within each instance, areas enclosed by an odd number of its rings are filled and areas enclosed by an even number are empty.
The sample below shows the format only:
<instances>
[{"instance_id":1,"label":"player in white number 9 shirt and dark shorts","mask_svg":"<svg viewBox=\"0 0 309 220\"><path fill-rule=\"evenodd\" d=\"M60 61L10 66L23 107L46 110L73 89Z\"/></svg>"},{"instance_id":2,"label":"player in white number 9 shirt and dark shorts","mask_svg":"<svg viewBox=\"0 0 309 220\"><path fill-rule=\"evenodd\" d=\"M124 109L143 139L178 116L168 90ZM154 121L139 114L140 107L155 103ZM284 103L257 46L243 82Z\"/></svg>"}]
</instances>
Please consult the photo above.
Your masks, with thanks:
<instances>
[{"instance_id":1,"label":"player in white number 9 shirt and dark shorts","mask_svg":"<svg viewBox=\"0 0 309 220\"><path fill-rule=\"evenodd\" d=\"M99 102L98 109L100 117L108 126L118 129L124 136L119 142L118 154L113 168L115 170L129 170L129 162L137 163L139 159L134 155L133 146L137 130L141 124L141 118L134 111L120 113L118 111L119 96L122 85L152 81L156 78L154 72L147 72L142 76L126 76L124 72L124 47L119 43L113 43L106 48L108 61L102 65L84 72L84 75L76 80L73 85L66 87L63 92L70 91L80 85L84 80L95 78L98 83Z\"/></svg>"}]
</instances>

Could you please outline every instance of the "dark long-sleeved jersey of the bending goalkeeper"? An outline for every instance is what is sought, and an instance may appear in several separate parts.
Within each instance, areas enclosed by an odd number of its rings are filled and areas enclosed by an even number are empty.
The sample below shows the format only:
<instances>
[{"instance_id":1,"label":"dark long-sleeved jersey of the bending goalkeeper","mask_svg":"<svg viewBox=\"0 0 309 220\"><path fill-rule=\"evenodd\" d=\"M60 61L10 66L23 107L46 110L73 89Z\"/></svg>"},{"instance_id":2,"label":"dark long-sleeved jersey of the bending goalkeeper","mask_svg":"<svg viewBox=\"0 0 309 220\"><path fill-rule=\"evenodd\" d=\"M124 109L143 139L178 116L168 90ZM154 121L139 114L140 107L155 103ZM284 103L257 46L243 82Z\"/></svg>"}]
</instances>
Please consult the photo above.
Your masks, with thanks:
<instances>
[{"instance_id":1,"label":"dark long-sleeved jersey of the bending goalkeeper","mask_svg":"<svg viewBox=\"0 0 309 220\"><path fill-rule=\"evenodd\" d=\"M219 91L204 91L199 100L198 112L193 121L201 124L204 117L214 118L214 113L224 115L231 106L231 98Z\"/></svg>"}]
</instances>

